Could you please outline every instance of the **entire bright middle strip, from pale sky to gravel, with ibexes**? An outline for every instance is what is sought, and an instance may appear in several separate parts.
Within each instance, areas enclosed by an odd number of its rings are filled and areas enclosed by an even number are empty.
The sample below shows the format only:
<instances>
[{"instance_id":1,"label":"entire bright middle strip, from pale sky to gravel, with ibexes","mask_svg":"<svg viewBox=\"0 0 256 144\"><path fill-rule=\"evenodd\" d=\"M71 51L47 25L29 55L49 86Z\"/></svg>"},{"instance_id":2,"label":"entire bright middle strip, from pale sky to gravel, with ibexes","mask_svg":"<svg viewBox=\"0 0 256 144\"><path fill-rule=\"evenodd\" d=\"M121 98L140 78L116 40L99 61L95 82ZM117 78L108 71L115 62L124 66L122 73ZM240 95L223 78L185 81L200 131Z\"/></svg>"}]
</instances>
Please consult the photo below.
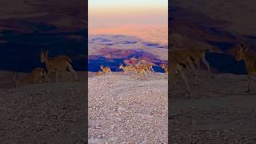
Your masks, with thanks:
<instances>
[{"instance_id":1,"label":"entire bright middle strip, from pale sky to gravel, with ibexes","mask_svg":"<svg viewBox=\"0 0 256 144\"><path fill-rule=\"evenodd\" d=\"M89 143L168 142L167 2L89 2Z\"/></svg>"}]
</instances>

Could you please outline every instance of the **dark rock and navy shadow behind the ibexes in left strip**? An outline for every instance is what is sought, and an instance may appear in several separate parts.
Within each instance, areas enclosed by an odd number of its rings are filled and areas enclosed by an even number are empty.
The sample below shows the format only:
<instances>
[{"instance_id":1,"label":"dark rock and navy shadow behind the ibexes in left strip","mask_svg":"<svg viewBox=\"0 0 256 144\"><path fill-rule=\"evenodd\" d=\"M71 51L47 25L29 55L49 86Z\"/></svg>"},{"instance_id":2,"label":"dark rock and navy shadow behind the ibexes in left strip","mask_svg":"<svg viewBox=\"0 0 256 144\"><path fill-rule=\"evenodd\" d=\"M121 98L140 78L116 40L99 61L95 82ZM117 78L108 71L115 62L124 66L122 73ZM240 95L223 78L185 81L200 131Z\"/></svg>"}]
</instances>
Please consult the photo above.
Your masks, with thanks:
<instances>
[{"instance_id":1,"label":"dark rock and navy shadow behind the ibexes in left strip","mask_svg":"<svg viewBox=\"0 0 256 144\"><path fill-rule=\"evenodd\" d=\"M0 69L28 72L40 50L66 54L76 70L86 70L87 2L10 0L0 2Z\"/></svg>"}]
</instances>

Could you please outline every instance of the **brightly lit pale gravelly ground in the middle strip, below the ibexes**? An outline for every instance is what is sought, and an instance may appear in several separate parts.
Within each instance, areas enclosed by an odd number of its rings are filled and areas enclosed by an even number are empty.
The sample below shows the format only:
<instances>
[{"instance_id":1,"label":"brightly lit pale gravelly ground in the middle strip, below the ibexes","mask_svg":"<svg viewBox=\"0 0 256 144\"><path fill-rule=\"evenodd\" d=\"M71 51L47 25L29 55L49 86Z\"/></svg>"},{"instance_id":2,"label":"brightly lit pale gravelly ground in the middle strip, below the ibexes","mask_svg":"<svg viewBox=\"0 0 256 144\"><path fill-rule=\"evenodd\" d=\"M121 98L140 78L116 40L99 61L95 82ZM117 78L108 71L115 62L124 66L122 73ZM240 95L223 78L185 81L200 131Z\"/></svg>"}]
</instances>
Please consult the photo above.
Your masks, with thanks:
<instances>
[{"instance_id":1,"label":"brightly lit pale gravelly ground in the middle strip, below the ibexes","mask_svg":"<svg viewBox=\"0 0 256 144\"><path fill-rule=\"evenodd\" d=\"M167 143L164 74L89 78L89 143Z\"/></svg>"}]
</instances>

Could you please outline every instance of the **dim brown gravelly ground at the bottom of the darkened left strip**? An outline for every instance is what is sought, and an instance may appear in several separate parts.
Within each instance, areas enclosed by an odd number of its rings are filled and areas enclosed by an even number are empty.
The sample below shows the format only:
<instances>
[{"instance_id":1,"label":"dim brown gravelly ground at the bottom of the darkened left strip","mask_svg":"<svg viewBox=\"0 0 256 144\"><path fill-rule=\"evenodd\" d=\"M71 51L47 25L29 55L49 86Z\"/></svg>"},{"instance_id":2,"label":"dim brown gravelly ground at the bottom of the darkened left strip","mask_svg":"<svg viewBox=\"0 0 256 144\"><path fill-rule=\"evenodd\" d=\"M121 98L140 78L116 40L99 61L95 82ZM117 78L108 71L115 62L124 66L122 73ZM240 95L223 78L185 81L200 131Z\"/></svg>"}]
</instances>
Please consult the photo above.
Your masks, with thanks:
<instances>
[{"instance_id":1,"label":"dim brown gravelly ground at the bottom of the darkened left strip","mask_svg":"<svg viewBox=\"0 0 256 144\"><path fill-rule=\"evenodd\" d=\"M0 143L86 143L86 82L85 75L79 77L79 82L2 88ZM10 80L0 86L10 88Z\"/></svg>"}]
</instances>

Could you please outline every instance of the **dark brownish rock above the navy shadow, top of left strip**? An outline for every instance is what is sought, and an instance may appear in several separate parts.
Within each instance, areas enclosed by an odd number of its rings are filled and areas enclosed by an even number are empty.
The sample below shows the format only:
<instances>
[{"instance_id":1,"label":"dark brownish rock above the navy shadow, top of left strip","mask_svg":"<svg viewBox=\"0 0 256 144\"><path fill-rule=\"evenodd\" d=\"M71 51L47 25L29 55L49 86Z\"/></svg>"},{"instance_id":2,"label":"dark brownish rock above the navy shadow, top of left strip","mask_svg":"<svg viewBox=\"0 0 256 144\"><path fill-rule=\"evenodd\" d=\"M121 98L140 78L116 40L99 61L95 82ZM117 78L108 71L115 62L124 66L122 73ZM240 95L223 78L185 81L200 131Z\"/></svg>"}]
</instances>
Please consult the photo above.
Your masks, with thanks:
<instances>
[{"instance_id":1,"label":"dark brownish rock above the navy shadow, top of left strip","mask_svg":"<svg viewBox=\"0 0 256 144\"><path fill-rule=\"evenodd\" d=\"M64 0L62 2L57 0L10 0L1 1L0 7L1 30L12 28L24 32L35 30L30 29L33 28L33 25L26 25L29 22L58 26L66 32L69 29L82 30L87 27L87 2L82 0ZM4 24L9 25L5 26Z\"/></svg>"}]
</instances>

